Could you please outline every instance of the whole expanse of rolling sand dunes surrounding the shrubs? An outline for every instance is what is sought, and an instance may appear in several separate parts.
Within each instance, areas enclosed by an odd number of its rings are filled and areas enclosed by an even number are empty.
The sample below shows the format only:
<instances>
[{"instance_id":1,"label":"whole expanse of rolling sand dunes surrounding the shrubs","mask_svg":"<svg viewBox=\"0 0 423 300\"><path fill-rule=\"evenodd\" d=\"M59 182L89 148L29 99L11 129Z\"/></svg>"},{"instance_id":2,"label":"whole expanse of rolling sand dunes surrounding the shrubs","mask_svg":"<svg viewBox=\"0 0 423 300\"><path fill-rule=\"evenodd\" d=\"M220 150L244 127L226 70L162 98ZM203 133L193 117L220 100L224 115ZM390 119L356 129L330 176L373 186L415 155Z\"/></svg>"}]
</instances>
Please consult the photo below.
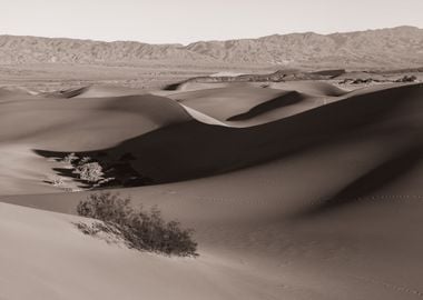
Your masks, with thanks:
<instances>
[{"instance_id":1,"label":"whole expanse of rolling sand dunes surrounding the shrubs","mask_svg":"<svg viewBox=\"0 0 423 300\"><path fill-rule=\"evenodd\" d=\"M423 298L423 84L0 90L0 299ZM115 187L199 257L82 234L42 151L134 156ZM69 188L78 182L63 178Z\"/></svg>"}]
</instances>

